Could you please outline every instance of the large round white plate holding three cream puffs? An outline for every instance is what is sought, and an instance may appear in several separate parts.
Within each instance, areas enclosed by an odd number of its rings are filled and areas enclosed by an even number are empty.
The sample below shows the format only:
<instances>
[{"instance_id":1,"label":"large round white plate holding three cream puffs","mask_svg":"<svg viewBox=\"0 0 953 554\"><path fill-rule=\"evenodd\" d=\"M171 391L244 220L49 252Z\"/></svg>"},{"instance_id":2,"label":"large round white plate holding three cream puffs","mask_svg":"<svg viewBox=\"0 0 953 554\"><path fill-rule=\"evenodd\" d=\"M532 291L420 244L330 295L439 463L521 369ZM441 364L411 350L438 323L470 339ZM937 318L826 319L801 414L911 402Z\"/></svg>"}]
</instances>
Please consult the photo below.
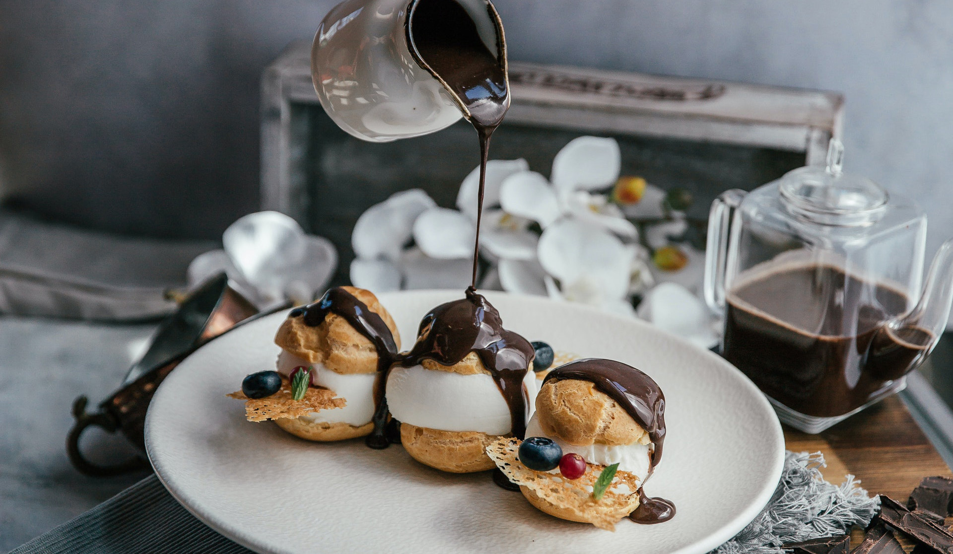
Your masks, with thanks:
<instances>
[{"instance_id":1,"label":"large round white plate holding three cream puffs","mask_svg":"<svg viewBox=\"0 0 953 554\"><path fill-rule=\"evenodd\" d=\"M458 292L380 295L404 347L419 319ZM510 329L558 350L618 359L659 382L668 435L646 485L678 515L623 520L615 533L558 520L489 473L452 475L400 446L301 441L245 421L226 393L274 367L285 313L215 339L172 372L152 400L146 446L159 479L196 517L258 552L703 553L760 512L780 477L784 442L774 410L731 364L648 324L544 298L487 294Z\"/></svg>"}]
</instances>

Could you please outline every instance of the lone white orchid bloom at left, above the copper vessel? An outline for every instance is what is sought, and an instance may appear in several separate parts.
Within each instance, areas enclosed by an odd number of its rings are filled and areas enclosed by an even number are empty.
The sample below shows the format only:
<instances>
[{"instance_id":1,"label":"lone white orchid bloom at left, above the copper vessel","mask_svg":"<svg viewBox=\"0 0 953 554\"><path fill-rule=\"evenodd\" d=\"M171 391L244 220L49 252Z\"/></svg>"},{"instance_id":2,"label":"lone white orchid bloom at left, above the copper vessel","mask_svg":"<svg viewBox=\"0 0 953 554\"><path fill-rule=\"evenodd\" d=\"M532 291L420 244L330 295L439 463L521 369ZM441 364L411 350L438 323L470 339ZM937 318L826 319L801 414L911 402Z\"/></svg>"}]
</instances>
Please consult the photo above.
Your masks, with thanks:
<instances>
[{"instance_id":1,"label":"lone white orchid bloom at left, above the copper vessel","mask_svg":"<svg viewBox=\"0 0 953 554\"><path fill-rule=\"evenodd\" d=\"M190 288L225 272L233 288L259 309L285 298L313 300L337 266L331 242L305 234L293 218L278 212L239 218L225 230L222 245L189 264Z\"/></svg>"}]
</instances>

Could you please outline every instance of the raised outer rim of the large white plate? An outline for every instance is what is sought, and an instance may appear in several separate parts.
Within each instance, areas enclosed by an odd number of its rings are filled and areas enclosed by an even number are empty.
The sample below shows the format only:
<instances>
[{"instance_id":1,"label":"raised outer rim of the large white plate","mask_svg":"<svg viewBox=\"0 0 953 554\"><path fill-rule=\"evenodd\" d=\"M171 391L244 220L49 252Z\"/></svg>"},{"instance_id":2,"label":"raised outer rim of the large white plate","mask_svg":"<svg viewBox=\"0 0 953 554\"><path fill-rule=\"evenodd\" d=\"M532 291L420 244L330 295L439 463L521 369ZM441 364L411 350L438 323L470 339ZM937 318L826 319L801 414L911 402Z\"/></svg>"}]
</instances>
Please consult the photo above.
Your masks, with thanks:
<instances>
[{"instance_id":1,"label":"raised outer rim of the large white plate","mask_svg":"<svg viewBox=\"0 0 953 554\"><path fill-rule=\"evenodd\" d=\"M557 302L549 298L529 296L529 295L515 295L510 293L495 293L495 292L482 292L487 296L491 301L498 296L506 296L511 298L518 298L520 302L526 302L528 304L538 303L538 304L547 304ZM447 290L419 290L419 291L400 291L395 293L382 293L377 295L381 300L381 303L387 304L388 298L394 298L397 296L401 297L421 297L421 298L432 298L432 297L445 297L447 295L459 295L458 291L447 291ZM652 326L651 324L642 321L640 319L633 318L623 318L620 316L607 314L605 312L599 311L597 308L587 306L584 304L572 303L568 304L572 309L588 311L592 314L598 315L599 318L614 319L622 322L623 324L636 325L642 327L642 331L649 334L656 334L665 337L666 339L675 341L679 343L680 348L686 348L695 350L696 352L702 353L703 356L709 357L714 365L720 366L725 370L726 376L730 376L729 379L734 379L736 384L738 384L746 394L752 397L752 400L755 400L766 417L769 418L771 425L771 435L769 437L764 437L764 441L773 442L775 445L778 445L778 448L775 448L775 455L771 461L771 467L764 475L763 482L760 486L760 492L744 509L729 522L723 524L715 532L701 538L692 544L686 544L683 547L673 550L670 554L701 554L713 550L720 546L721 544L726 543L731 540L738 532L744 528L745 525L751 523L764 509L764 506L771 500L771 497L774 495L774 492L777 488L778 482L781 480L781 471L784 464L784 439L783 432L781 430L781 422L778 420L774 408L771 406L770 402L764 397L760 392L757 385L749 380L744 374L740 372L734 365L726 361L725 359L720 358L720 356L707 351L705 349L696 346L687 340L680 339L679 337L672 335L670 333L659 330L658 328ZM257 323L252 322L251 324ZM225 337L228 335L226 334ZM207 345L203 345L201 348L206 348ZM170 382L172 380L183 379L181 377L182 373L172 372L170 376L164 381L163 385L160 385L159 389L156 391L156 397L161 394L165 382ZM154 397L153 397L154 398ZM152 404L154 405L154 403ZM169 493L172 495L178 503L185 507L190 513L193 514L199 521L209 525L218 533L229 538L237 544L241 544L246 548L253 550L254 552L267 553L267 554L283 554L283 550L277 550L271 547L269 544L261 543L256 541L254 537L248 536L241 528L235 527L230 524L228 521L222 520L213 513L213 510L203 509L201 507L202 501L200 499L193 498L189 495L188 491L182 490L176 486L174 482L170 482L164 478L164 466L160 460L157 460L158 455L155 451L155 445L153 444L151 437L151 427L152 421L154 419L154 410L152 407L146 416L145 424L145 440L146 440L146 450L149 456L149 460L152 463L152 468L155 471L159 482L166 487ZM383 550L381 550L383 552Z\"/></svg>"}]
</instances>

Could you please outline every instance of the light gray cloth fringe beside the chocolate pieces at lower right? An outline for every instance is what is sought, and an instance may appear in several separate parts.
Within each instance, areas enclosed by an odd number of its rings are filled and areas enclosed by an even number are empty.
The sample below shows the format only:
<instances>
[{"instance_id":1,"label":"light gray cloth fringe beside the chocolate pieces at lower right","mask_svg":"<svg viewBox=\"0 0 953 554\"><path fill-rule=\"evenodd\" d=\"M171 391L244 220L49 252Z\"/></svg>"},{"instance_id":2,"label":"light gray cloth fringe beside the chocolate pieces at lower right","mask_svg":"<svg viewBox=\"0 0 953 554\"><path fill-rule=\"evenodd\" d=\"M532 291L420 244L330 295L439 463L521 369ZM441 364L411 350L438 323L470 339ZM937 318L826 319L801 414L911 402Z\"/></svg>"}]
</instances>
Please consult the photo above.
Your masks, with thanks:
<instances>
[{"instance_id":1,"label":"light gray cloth fringe beside the chocolate pieces at lower right","mask_svg":"<svg viewBox=\"0 0 953 554\"><path fill-rule=\"evenodd\" d=\"M880 508L860 481L847 475L840 486L826 482L820 452L787 452L781 482L764 511L715 554L781 554L781 544L843 535L852 525L866 526Z\"/></svg>"}]
</instances>

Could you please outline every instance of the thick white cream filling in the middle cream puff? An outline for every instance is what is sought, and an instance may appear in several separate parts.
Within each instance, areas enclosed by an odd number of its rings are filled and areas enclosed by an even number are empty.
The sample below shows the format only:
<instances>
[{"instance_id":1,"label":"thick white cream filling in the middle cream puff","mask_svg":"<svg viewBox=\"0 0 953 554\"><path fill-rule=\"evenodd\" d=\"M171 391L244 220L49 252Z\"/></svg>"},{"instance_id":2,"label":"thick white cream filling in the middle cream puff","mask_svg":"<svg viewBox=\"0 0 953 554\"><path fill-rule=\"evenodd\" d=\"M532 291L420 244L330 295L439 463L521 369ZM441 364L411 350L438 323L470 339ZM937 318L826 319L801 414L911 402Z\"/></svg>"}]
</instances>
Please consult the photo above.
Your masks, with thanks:
<instances>
[{"instance_id":1,"label":"thick white cream filling in the middle cream puff","mask_svg":"<svg viewBox=\"0 0 953 554\"><path fill-rule=\"evenodd\" d=\"M527 405L536 402L536 375L523 379ZM512 429L510 408L497 383L485 373L460 375L426 369L421 365L396 366L387 379L387 406L398 420L442 431L474 431L506 435Z\"/></svg>"}]
</instances>

